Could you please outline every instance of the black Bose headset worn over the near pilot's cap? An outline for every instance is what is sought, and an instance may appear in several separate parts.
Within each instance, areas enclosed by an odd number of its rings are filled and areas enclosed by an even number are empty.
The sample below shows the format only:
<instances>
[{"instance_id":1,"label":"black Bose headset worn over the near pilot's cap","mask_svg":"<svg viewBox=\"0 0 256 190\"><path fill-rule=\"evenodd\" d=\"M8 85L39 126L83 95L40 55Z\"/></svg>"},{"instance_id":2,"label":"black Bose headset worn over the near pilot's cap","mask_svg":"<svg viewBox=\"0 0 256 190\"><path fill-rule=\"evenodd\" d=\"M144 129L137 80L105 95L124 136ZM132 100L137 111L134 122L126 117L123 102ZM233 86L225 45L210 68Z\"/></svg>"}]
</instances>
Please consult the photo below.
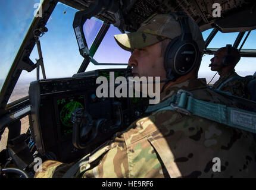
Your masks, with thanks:
<instances>
[{"instance_id":1,"label":"black Bose headset worn over the near pilot's cap","mask_svg":"<svg viewBox=\"0 0 256 190\"><path fill-rule=\"evenodd\" d=\"M199 61L200 52L197 43L192 39L189 28L188 15L185 12L170 12L177 21L179 20L182 34L171 40L164 55L164 68L166 78L176 81L182 75L188 74Z\"/></svg>"}]
</instances>

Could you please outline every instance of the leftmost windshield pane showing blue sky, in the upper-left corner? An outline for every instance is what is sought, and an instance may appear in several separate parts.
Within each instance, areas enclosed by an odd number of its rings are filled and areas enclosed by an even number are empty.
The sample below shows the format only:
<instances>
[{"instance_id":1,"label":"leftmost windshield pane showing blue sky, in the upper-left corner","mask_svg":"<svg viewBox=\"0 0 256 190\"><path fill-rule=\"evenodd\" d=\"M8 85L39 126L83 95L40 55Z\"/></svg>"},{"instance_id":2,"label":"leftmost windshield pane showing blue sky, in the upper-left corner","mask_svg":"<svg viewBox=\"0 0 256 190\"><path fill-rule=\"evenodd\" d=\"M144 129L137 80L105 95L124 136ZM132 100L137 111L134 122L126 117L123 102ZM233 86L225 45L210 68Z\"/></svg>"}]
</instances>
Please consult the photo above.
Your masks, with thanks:
<instances>
[{"instance_id":1,"label":"leftmost windshield pane showing blue sky, in the upper-left corner","mask_svg":"<svg viewBox=\"0 0 256 190\"><path fill-rule=\"evenodd\" d=\"M0 91L33 18L44 0L0 1Z\"/></svg>"}]
</instances>

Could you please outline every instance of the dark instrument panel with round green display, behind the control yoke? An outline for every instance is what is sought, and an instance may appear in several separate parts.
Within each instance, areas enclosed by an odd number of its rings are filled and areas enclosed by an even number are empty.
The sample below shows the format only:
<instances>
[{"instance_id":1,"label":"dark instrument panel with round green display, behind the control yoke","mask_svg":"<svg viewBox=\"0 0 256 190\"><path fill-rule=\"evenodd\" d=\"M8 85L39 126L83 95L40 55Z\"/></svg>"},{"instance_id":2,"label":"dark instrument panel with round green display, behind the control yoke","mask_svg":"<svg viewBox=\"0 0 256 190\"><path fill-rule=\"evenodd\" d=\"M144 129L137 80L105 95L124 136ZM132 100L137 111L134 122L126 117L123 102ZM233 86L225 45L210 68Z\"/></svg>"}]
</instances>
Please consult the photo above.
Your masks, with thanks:
<instances>
[{"instance_id":1,"label":"dark instrument panel with round green display, behind the control yoke","mask_svg":"<svg viewBox=\"0 0 256 190\"><path fill-rule=\"evenodd\" d=\"M143 115L148 99L96 96L96 78L110 72L115 72L115 78L127 75L126 69L101 69L30 84L32 136L40 154L60 162L74 162ZM87 142L85 148L73 143L74 124L70 118L76 109L84 110L93 122L90 132L81 136Z\"/></svg>"}]
</instances>

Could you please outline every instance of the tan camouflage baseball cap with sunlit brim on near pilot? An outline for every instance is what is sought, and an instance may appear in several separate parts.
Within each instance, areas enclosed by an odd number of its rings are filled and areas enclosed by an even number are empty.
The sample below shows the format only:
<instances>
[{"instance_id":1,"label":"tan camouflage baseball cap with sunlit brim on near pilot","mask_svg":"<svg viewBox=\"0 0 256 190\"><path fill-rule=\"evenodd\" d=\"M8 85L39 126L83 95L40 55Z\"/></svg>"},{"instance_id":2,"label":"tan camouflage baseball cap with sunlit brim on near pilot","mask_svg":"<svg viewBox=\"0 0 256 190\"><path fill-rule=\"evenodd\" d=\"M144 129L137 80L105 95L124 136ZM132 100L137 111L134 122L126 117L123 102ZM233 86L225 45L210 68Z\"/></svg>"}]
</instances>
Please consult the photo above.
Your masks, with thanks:
<instances>
[{"instance_id":1,"label":"tan camouflage baseball cap with sunlit brim on near pilot","mask_svg":"<svg viewBox=\"0 0 256 190\"><path fill-rule=\"evenodd\" d=\"M204 39L198 25L189 17L192 38L198 44L199 51L204 50ZM169 38L174 39L182 34L179 21L170 14L155 14L141 24L136 32L118 34L114 38L118 45L127 51L134 51Z\"/></svg>"}]
</instances>

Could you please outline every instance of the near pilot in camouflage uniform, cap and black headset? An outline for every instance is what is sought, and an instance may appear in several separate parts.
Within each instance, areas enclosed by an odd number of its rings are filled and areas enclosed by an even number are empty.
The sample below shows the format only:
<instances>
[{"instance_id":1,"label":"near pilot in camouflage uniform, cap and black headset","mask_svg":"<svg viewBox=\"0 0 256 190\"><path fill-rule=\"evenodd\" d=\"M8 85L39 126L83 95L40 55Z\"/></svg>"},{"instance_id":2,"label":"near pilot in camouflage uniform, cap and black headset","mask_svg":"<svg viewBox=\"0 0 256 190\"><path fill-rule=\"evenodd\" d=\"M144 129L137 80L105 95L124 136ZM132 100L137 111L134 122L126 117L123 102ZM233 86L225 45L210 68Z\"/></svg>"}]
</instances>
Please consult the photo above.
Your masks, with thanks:
<instances>
[{"instance_id":1,"label":"near pilot in camouflage uniform, cap and black headset","mask_svg":"<svg viewBox=\"0 0 256 190\"><path fill-rule=\"evenodd\" d=\"M205 78L198 79L204 40L198 25L189 17L182 25L183 18L183 14L157 14L137 32L114 36L120 47L133 51L129 65L134 75L161 77L158 107L151 105L149 116L117 132L77 163L47 160L36 178L256 177L256 144L251 133L182 109L164 108L180 89L198 100L235 107L231 100L209 89ZM168 62L172 53L179 57L177 62ZM176 68L182 66L179 71L187 73L174 73L168 64L178 64ZM213 116L220 114L208 110Z\"/></svg>"}]
</instances>

